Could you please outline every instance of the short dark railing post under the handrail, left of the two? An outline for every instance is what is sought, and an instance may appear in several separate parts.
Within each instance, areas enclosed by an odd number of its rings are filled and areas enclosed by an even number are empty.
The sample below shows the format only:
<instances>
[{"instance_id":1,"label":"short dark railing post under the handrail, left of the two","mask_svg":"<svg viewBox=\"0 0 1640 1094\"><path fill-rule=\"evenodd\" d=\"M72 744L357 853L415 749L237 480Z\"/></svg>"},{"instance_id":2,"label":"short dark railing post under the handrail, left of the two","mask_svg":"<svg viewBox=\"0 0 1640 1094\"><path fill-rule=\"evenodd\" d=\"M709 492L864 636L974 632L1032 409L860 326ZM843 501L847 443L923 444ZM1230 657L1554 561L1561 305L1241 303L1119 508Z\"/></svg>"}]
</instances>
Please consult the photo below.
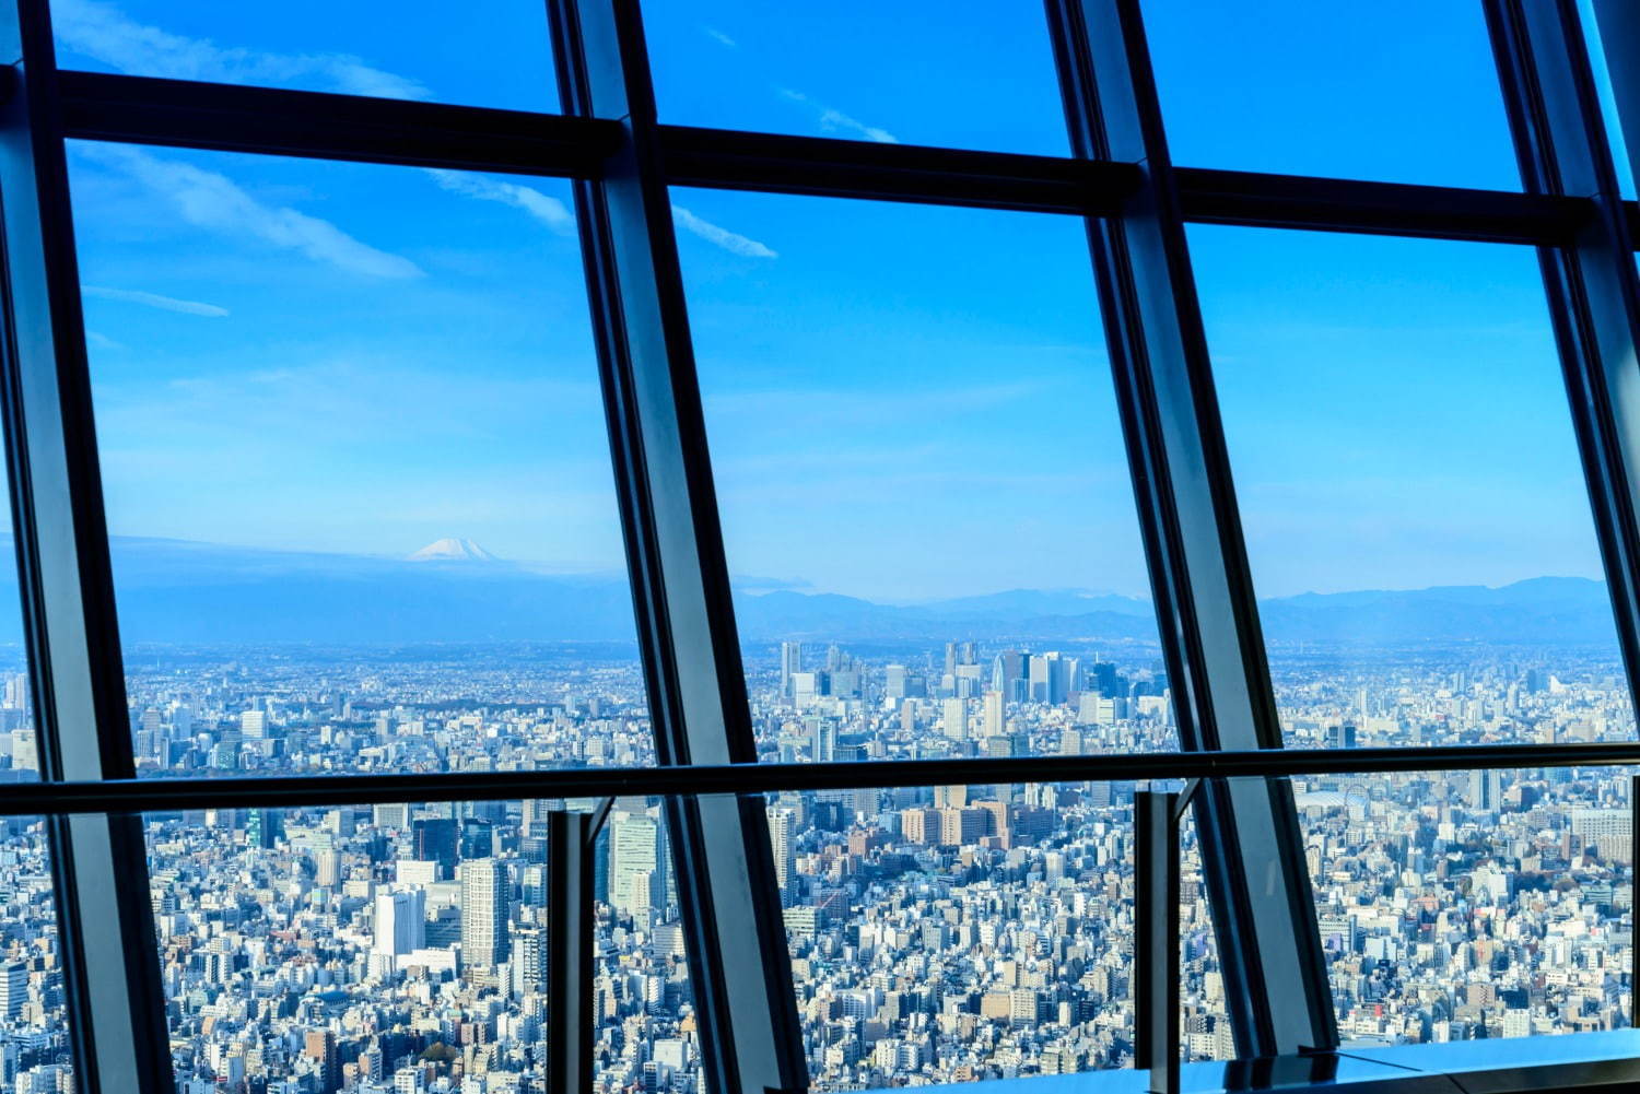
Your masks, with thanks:
<instances>
[{"instance_id":1,"label":"short dark railing post under the handrail, left of the two","mask_svg":"<svg viewBox=\"0 0 1640 1094\"><path fill-rule=\"evenodd\" d=\"M592 1089L592 817L546 815L546 1094Z\"/></svg>"}]
</instances>

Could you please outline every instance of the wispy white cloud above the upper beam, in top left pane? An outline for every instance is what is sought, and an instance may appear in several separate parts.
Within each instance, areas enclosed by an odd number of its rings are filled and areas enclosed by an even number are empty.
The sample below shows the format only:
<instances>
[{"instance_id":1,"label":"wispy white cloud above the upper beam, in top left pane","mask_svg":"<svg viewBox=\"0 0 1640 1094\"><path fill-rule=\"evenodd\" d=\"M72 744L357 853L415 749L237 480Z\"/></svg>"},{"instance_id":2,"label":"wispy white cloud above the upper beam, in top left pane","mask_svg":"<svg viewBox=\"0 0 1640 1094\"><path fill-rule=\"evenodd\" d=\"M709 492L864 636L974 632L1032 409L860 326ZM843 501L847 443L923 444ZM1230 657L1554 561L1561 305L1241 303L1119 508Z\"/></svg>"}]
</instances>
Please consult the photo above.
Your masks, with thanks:
<instances>
[{"instance_id":1,"label":"wispy white cloud above the upper beam, in top left pane","mask_svg":"<svg viewBox=\"0 0 1640 1094\"><path fill-rule=\"evenodd\" d=\"M430 97L417 80L384 72L351 54L279 54L218 46L138 23L105 0L56 0L51 15L64 49L121 72L223 84L303 84L382 98Z\"/></svg>"}]
</instances>

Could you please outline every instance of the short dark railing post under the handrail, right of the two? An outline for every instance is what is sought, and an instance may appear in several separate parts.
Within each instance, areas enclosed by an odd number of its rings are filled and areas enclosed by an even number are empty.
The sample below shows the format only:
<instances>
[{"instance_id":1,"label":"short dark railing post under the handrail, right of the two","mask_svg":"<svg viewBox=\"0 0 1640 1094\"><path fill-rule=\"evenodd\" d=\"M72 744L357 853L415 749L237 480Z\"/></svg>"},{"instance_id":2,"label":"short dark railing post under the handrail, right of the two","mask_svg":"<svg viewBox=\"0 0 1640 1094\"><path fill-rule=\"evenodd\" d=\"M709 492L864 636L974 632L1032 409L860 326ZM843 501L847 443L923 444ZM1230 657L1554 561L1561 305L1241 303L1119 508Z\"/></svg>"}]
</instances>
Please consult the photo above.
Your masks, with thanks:
<instances>
[{"instance_id":1,"label":"short dark railing post under the handrail, right of the two","mask_svg":"<svg viewBox=\"0 0 1640 1094\"><path fill-rule=\"evenodd\" d=\"M1179 1089L1179 795L1133 795L1133 1063Z\"/></svg>"}]
</instances>

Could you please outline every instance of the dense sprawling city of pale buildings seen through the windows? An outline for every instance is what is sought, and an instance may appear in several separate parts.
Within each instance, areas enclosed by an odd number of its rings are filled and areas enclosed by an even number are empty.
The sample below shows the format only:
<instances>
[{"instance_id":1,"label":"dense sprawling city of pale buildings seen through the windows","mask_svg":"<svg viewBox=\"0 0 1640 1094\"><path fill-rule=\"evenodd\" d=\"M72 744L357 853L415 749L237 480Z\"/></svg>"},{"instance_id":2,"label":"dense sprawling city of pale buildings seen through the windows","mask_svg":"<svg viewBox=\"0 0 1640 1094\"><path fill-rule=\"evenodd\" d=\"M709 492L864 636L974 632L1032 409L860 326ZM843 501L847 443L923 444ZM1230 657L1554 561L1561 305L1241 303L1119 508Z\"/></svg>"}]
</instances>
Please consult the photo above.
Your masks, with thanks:
<instances>
[{"instance_id":1,"label":"dense sprawling city of pale buildings seen through the windows","mask_svg":"<svg viewBox=\"0 0 1640 1094\"><path fill-rule=\"evenodd\" d=\"M1604 651L1601 651L1604 654ZM1032 650L749 648L763 759L1176 748L1141 641ZM1287 741L1620 740L1610 658L1576 650L1273 650ZM133 650L143 774L505 771L653 763L630 648ZM0 751L36 777L21 674ZM863 776L869 782L869 776ZM1624 1027L1627 776L1522 769L1294 779L1351 1045ZM815 1089L1133 1063L1132 784L868 787L766 802ZM594 800L190 810L144 818L182 1094L543 1089L544 817ZM44 830L0 856L0 1079L72 1089ZM1187 1060L1235 1055L1189 823ZM666 818L608 804L595 855L600 1094L702 1091Z\"/></svg>"}]
</instances>

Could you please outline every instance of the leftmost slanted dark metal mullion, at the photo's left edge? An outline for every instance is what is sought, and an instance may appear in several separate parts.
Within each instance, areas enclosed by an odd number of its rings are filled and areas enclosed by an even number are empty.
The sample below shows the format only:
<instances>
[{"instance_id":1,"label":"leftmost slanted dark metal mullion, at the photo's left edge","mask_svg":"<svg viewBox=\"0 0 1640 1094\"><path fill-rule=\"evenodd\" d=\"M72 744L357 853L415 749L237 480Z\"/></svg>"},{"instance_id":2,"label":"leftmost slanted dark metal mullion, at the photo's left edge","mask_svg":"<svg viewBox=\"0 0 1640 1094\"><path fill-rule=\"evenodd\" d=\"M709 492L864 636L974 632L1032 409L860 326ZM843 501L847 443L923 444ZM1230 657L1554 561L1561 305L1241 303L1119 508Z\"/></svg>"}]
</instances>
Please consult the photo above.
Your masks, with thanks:
<instances>
[{"instance_id":1,"label":"leftmost slanted dark metal mullion, at the photo's left edge","mask_svg":"<svg viewBox=\"0 0 1640 1094\"><path fill-rule=\"evenodd\" d=\"M46 781L134 774L44 0L0 7L3 405L25 631ZM174 1086L141 818L49 823L77 1081Z\"/></svg>"}]
</instances>

